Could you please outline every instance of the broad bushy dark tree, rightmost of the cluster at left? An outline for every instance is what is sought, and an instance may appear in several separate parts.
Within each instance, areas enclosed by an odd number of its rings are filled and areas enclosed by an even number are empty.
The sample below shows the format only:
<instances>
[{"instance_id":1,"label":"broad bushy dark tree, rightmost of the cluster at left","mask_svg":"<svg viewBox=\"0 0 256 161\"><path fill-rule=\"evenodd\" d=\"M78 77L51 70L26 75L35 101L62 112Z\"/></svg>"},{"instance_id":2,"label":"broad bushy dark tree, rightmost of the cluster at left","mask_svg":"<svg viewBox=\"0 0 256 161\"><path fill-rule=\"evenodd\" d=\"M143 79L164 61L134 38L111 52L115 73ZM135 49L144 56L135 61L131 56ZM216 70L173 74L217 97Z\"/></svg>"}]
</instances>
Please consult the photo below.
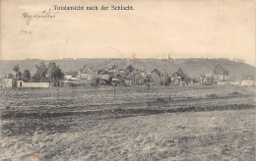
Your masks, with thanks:
<instances>
[{"instance_id":1,"label":"broad bushy dark tree, rightmost of the cluster at left","mask_svg":"<svg viewBox=\"0 0 256 161\"><path fill-rule=\"evenodd\" d=\"M64 79L64 73L61 71L60 67L57 66L54 62L49 63L48 66L48 80L51 82L59 82L59 80Z\"/></svg>"}]
</instances>

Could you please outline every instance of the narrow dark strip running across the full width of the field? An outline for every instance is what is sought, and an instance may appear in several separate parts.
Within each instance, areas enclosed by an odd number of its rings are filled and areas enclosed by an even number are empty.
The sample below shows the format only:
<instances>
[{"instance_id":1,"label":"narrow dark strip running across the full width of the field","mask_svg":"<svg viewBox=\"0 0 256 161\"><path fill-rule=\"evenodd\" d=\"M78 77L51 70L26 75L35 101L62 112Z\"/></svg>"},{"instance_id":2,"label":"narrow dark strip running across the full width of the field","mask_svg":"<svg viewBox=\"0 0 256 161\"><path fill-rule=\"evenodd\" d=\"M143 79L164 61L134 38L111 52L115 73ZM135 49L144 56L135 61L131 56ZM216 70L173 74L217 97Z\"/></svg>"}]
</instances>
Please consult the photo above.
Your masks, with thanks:
<instances>
[{"instance_id":1,"label":"narrow dark strip running across the full width of the field","mask_svg":"<svg viewBox=\"0 0 256 161\"><path fill-rule=\"evenodd\" d=\"M200 111L223 111L223 110L241 110L241 109L252 109L255 105L252 104L229 104L223 106L209 106L209 107L196 107L196 106L182 106L175 108L156 108L155 106L164 102L151 102L148 103L150 108L116 108L109 110L91 110L91 111L45 111L39 112L37 110L23 110L23 111L2 111L1 119L16 119L16 118L56 118L65 116L87 116L87 115L156 115L161 113L176 113L176 112L200 112ZM114 118L114 117L113 117ZM119 117L118 117L119 118Z\"/></svg>"}]
</instances>

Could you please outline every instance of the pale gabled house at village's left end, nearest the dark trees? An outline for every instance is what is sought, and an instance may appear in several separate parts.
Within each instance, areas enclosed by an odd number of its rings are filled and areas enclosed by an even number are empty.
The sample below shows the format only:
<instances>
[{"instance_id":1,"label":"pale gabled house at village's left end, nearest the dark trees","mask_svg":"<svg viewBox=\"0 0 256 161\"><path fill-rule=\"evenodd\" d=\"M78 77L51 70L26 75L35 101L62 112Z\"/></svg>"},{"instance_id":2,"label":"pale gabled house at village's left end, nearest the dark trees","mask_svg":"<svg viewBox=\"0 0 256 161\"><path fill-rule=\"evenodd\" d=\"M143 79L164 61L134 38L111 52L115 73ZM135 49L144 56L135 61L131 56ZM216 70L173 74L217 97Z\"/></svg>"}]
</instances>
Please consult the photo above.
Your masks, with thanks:
<instances>
[{"instance_id":1,"label":"pale gabled house at village's left end, nearest the dark trees","mask_svg":"<svg viewBox=\"0 0 256 161\"><path fill-rule=\"evenodd\" d=\"M93 80L96 78L96 72L88 65L82 66L78 71L78 77L80 80Z\"/></svg>"}]
</instances>

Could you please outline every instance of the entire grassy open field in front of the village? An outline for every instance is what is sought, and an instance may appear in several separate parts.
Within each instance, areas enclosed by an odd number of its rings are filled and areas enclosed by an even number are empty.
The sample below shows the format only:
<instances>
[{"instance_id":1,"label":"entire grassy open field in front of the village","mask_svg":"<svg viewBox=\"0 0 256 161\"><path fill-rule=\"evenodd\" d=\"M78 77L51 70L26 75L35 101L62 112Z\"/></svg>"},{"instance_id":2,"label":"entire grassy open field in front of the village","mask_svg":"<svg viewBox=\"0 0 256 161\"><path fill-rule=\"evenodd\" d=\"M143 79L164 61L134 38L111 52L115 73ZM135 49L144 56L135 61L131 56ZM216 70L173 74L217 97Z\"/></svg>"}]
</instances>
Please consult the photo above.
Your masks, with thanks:
<instances>
[{"instance_id":1,"label":"entire grassy open field in front of the village","mask_svg":"<svg viewBox=\"0 0 256 161\"><path fill-rule=\"evenodd\" d=\"M2 160L255 160L255 88L1 89Z\"/></svg>"}]
</instances>

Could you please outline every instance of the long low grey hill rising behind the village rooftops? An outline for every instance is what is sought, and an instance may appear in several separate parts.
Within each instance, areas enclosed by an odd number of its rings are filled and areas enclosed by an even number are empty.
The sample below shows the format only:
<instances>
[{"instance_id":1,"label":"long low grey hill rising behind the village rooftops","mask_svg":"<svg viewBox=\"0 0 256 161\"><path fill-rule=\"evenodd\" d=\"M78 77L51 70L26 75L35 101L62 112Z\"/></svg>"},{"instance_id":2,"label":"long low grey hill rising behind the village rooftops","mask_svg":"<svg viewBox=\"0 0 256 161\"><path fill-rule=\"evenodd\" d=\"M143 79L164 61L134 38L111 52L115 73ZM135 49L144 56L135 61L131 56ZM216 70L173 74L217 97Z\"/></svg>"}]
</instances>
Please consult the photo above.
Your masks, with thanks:
<instances>
[{"instance_id":1,"label":"long low grey hill rising behind the village rooftops","mask_svg":"<svg viewBox=\"0 0 256 161\"><path fill-rule=\"evenodd\" d=\"M35 65L42 60L0 60L0 76L13 73L15 65L20 65L20 69L35 72ZM197 78L204 75L221 64L229 72L230 80L245 80L251 78L255 80L255 67L237 63L227 59L174 59L168 63L160 59L79 59L79 60L44 60L47 65L49 62L55 62L63 72L78 71L83 65L90 65L94 70L102 67L111 67L117 65L118 68L124 69L133 65L136 69L146 70L148 72L154 69L165 70L168 75L172 75L176 70L181 69L190 78Z\"/></svg>"}]
</instances>

